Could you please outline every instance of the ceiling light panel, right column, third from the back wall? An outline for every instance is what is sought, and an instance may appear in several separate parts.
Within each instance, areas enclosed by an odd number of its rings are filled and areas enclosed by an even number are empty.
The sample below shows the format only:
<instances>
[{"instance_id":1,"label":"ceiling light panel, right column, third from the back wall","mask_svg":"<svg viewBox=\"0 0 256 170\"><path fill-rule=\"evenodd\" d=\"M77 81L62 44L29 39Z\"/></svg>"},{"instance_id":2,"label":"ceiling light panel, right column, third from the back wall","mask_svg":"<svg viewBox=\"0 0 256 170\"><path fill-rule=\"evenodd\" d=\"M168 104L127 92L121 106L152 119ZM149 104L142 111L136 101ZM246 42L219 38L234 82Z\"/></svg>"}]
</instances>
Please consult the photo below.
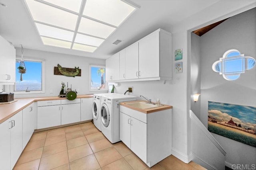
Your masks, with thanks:
<instances>
[{"instance_id":1,"label":"ceiling light panel, right column, third from the back wall","mask_svg":"<svg viewBox=\"0 0 256 170\"><path fill-rule=\"evenodd\" d=\"M107 38L116 28L110 27L87 18L81 18L78 32L94 35L96 37Z\"/></svg>"}]
</instances>

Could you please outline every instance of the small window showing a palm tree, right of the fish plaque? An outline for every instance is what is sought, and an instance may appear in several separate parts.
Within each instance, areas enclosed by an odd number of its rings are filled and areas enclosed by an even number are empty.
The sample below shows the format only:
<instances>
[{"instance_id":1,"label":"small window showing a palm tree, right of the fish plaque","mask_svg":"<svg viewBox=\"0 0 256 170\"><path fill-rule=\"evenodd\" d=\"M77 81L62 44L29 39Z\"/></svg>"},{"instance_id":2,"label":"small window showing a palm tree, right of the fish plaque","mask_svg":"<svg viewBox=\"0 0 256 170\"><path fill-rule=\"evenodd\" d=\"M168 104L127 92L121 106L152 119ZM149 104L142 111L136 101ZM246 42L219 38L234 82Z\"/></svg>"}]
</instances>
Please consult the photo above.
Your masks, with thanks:
<instances>
[{"instance_id":1,"label":"small window showing a palm tree, right of the fish plaque","mask_svg":"<svg viewBox=\"0 0 256 170\"><path fill-rule=\"evenodd\" d=\"M106 90L105 66L90 65L90 91Z\"/></svg>"}]
</instances>

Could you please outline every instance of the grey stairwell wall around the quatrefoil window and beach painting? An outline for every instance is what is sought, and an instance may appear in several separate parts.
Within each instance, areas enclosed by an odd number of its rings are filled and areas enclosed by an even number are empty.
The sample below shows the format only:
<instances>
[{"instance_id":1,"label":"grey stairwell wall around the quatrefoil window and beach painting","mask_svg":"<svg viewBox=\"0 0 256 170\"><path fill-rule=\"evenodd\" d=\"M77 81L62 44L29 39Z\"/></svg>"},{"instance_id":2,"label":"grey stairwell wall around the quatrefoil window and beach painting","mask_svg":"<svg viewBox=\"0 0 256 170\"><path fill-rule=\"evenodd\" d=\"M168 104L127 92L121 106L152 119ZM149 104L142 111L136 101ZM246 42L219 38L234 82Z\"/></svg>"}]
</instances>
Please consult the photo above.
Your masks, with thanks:
<instances>
[{"instance_id":1,"label":"grey stairwell wall around the quatrefoil window and beach painting","mask_svg":"<svg viewBox=\"0 0 256 170\"><path fill-rule=\"evenodd\" d=\"M212 70L229 49L256 59L256 8L224 21L201 36L201 121L207 127L208 101L256 106L256 66L234 81ZM255 164L256 148L213 134L230 164Z\"/></svg>"}]
</instances>

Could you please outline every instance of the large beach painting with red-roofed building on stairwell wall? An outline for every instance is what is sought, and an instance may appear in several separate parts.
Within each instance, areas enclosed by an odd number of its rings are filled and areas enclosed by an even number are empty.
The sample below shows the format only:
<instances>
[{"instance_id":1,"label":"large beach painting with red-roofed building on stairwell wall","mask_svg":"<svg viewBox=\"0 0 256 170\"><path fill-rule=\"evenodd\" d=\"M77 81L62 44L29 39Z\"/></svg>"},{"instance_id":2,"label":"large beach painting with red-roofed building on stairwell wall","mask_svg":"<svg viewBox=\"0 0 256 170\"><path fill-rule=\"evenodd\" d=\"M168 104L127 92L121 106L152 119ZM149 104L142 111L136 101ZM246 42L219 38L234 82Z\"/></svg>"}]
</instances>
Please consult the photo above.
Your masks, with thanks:
<instances>
[{"instance_id":1,"label":"large beach painting with red-roofed building on stairwell wall","mask_svg":"<svg viewBox=\"0 0 256 170\"><path fill-rule=\"evenodd\" d=\"M256 107L208 102L208 131L256 147Z\"/></svg>"}]
</instances>

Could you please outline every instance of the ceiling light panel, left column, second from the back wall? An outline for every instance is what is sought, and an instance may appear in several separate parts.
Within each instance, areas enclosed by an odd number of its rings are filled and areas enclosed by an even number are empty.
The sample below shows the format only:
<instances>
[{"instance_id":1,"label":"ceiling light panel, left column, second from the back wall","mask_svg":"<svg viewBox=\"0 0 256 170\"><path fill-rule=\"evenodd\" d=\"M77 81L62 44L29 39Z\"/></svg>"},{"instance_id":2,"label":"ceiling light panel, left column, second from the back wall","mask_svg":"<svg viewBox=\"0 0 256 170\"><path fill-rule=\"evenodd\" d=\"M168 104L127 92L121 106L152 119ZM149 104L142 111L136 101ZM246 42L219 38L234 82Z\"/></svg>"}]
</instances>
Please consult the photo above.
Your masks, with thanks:
<instances>
[{"instance_id":1,"label":"ceiling light panel, left column, second from the back wall","mask_svg":"<svg viewBox=\"0 0 256 170\"><path fill-rule=\"evenodd\" d=\"M74 32L72 31L67 31L64 29L56 28L56 27L51 27L48 25L44 25L41 23L35 23L36 27L38 29L38 32L40 35L46 36L46 37L53 37L57 39L63 39L67 41L72 41Z\"/></svg>"}]
</instances>

